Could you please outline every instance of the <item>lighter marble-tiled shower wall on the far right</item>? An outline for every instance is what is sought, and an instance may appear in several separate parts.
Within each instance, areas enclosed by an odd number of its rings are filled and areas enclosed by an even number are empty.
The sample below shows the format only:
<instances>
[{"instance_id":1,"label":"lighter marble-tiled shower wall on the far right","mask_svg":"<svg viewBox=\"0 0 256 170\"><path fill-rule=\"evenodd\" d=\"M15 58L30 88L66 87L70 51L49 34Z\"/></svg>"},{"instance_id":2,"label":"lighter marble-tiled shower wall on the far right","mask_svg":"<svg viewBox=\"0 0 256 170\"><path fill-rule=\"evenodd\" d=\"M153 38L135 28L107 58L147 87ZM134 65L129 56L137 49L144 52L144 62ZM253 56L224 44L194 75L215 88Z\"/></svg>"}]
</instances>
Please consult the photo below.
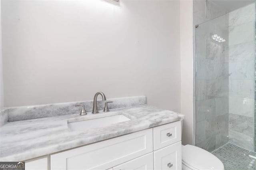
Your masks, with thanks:
<instances>
[{"instance_id":1,"label":"lighter marble-tiled shower wall on the far right","mask_svg":"<svg viewBox=\"0 0 256 170\"><path fill-rule=\"evenodd\" d=\"M255 3L229 14L229 142L254 150Z\"/></svg>"}]
</instances>

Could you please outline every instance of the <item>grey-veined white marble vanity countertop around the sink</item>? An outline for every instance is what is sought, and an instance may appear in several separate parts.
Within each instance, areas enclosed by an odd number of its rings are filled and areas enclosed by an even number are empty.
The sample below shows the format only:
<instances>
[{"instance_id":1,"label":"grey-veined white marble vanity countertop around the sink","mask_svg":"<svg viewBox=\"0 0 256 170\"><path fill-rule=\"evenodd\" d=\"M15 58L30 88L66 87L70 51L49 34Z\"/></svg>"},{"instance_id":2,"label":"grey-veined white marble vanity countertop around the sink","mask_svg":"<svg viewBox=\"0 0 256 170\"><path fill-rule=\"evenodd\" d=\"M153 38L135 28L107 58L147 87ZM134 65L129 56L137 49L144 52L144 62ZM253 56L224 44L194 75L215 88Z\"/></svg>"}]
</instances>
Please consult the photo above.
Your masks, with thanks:
<instances>
[{"instance_id":1,"label":"grey-veined white marble vanity countertop around the sink","mask_svg":"<svg viewBox=\"0 0 256 170\"><path fill-rule=\"evenodd\" d=\"M107 127L71 131L68 122L118 114L131 119ZM110 109L108 113L60 115L9 122L0 128L0 161L21 161L106 140L184 119L184 115L148 105Z\"/></svg>"}]
</instances>

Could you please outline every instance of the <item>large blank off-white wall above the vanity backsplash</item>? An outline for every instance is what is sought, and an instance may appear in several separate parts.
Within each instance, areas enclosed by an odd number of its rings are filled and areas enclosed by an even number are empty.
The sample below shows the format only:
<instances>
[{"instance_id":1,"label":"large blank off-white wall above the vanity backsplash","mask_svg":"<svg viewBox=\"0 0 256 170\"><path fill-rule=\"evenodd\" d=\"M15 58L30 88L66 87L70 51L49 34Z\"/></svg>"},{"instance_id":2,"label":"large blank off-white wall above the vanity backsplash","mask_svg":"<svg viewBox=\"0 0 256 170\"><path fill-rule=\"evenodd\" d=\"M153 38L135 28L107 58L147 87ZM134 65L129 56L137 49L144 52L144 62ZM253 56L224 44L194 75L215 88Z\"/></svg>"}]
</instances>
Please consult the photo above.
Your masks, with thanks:
<instances>
[{"instance_id":1,"label":"large blank off-white wall above the vanity backsplash","mask_svg":"<svg viewBox=\"0 0 256 170\"><path fill-rule=\"evenodd\" d=\"M4 105L146 95L180 112L180 2L2 0Z\"/></svg>"}]
</instances>

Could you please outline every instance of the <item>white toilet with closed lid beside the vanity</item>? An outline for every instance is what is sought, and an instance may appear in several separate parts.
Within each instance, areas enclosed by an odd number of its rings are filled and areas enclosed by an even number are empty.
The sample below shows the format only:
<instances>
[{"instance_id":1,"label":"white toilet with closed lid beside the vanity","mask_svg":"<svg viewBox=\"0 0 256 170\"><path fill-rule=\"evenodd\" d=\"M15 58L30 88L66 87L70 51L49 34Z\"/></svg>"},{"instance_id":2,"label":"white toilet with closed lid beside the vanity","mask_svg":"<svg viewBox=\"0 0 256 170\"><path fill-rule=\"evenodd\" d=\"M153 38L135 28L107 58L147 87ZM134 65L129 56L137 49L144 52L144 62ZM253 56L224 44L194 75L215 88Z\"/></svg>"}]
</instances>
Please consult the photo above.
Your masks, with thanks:
<instances>
[{"instance_id":1,"label":"white toilet with closed lid beside the vanity","mask_svg":"<svg viewBox=\"0 0 256 170\"><path fill-rule=\"evenodd\" d=\"M224 165L216 156L189 144L182 147L182 162L199 170L224 170Z\"/></svg>"}]
</instances>

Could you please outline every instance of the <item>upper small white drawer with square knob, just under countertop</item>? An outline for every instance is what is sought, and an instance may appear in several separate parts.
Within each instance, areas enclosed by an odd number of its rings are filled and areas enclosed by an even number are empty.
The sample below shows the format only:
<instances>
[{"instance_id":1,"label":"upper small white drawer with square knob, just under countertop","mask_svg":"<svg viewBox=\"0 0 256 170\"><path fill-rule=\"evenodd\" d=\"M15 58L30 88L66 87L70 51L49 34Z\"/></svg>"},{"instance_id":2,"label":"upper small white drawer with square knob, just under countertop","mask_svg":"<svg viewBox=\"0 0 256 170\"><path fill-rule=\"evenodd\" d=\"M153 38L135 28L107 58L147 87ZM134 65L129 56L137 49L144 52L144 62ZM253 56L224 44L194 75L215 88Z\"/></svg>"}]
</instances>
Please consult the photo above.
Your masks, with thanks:
<instances>
[{"instance_id":1,"label":"upper small white drawer with square knob, just under countertop","mask_svg":"<svg viewBox=\"0 0 256 170\"><path fill-rule=\"evenodd\" d=\"M181 140L181 122L177 121L153 128L154 150Z\"/></svg>"}]
</instances>

